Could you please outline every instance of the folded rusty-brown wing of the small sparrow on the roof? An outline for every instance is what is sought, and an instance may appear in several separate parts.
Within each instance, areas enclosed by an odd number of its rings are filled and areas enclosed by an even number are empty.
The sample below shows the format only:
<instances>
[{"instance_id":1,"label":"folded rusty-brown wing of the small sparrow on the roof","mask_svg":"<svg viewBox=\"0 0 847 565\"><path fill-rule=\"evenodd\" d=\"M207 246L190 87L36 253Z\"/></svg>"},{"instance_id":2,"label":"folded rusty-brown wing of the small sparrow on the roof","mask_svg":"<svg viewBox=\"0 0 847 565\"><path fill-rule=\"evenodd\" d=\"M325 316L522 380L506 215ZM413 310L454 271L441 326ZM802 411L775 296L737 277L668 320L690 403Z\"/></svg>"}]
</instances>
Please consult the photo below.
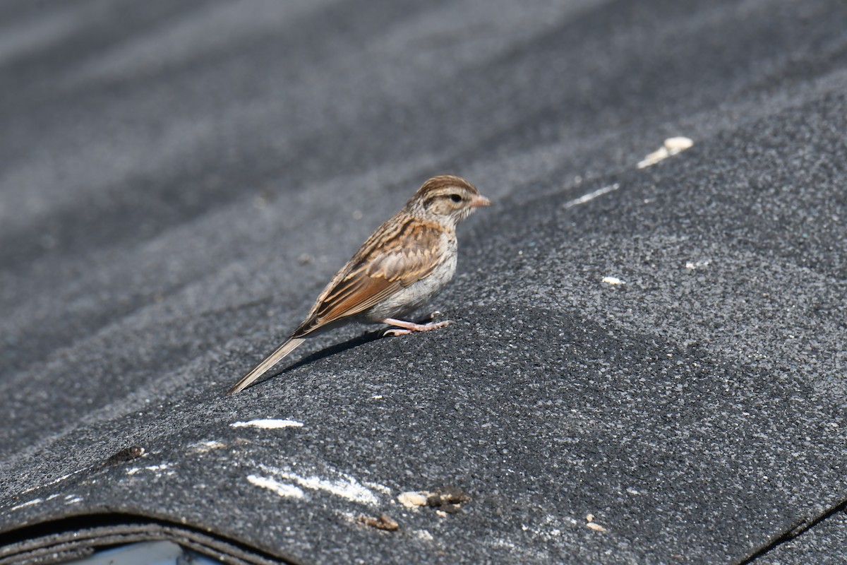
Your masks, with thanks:
<instances>
[{"instance_id":1,"label":"folded rusty-brown wing of the small sparrow on the roof","mask_svg":"<svg viewBox=\"0 0 847 565\"><path fill-rule=\"evenodd\" d=\"M398 214L379 226L318 296L292 338L304 337L340 319L363 313L392 293L423 279L443 259L444 229Z\"/></svg>"}]
</instances>

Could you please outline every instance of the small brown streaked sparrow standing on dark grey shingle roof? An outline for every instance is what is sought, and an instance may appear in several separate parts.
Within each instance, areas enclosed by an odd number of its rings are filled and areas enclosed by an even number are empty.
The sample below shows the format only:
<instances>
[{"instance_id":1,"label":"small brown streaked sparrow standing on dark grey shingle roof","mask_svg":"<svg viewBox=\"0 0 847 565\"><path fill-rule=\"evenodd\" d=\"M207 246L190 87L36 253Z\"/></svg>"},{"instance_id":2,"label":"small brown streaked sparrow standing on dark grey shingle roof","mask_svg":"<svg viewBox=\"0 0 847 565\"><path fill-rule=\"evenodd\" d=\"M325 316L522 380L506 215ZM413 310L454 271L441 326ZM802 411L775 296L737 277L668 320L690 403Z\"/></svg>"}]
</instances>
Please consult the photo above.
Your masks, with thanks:
<instances>
[{"instance_id":1,"label":"small brown streaked sparrow standing on dark grey shingle roof","mask_svg":"<svg viewBox=\"0 0 847 565\"><path fill-rule=\"evenodd\" d=\"M490 206L467 180L435 176L406 206L380 225L320 293L306 319L288 339L233 385L243 391L307 338L349 322L390 324L383 335L406 335L450 324L402 318L423 307L456 272L456 225L477 208Z\"/></svg>"}]
</instances>

